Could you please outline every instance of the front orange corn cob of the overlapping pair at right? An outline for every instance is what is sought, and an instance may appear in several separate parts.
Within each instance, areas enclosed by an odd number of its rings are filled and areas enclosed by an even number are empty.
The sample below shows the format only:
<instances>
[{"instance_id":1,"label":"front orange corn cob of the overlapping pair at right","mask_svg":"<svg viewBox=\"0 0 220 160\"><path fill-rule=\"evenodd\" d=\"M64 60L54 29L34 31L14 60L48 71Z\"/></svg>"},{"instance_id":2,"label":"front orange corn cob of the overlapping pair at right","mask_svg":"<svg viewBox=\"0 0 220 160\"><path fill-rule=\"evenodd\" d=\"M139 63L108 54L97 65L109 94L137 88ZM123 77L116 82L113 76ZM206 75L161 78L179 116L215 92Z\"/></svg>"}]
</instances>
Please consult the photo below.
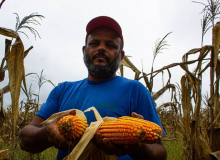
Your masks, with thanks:
<instances>
[{"instance_id":1,"label":"front orange corn cob of the overlapping pair at right","mask_svg":"<svg viewBox=\"0 0 220 160\"><path fill-rule=\"evenodd\" d=\"M145 137L142 126L130 121L103 122L98 132L103 138L108 138L118 145L135 144Z\"/></svg>"}]
</instances>

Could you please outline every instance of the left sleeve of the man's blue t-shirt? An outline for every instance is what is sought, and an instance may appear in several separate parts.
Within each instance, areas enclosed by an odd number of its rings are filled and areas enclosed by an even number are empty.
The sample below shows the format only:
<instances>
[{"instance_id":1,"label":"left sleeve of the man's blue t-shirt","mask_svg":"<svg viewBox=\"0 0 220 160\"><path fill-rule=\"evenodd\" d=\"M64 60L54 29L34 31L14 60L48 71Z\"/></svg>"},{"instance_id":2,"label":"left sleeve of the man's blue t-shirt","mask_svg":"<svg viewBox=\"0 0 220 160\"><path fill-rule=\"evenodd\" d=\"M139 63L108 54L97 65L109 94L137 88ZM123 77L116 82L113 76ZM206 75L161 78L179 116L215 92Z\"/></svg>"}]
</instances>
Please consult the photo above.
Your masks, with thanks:
<instances>
[{"instance_id":1,"label":"left sleeve of the man's blue t-shirt","mask_svg":"<svg viewBox=\"0 0 220 160\"><path fill-rule=\"evenodd\" d=\"M60 84L62 85L62 84ZM49 118L52 114L59 112L59 98L61 97L60 85L55 87L49 94L46 103L36 113L44 119Z\"/></svg>"}]
</instances>

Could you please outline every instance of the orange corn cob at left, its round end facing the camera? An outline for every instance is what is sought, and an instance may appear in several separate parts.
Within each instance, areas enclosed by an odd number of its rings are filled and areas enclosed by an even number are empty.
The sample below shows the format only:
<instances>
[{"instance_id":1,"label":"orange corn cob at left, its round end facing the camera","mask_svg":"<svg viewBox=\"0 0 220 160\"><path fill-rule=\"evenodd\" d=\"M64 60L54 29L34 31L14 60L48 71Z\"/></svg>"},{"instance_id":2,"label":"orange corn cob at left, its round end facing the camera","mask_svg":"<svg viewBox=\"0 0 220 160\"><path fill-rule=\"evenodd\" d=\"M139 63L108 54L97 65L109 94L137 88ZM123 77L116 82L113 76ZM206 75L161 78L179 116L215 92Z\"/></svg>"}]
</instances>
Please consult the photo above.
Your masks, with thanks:
<instances>
[{"instance_id":1,"label":"orange corn cob at left, its round end facing the camera","mask_svg":"<svg viewBox=\"0 0 220 160\"><path fill-rule=\"evenodd\" d=\"M80 138L87 127L85 119L73 115L64 116L58 122L60 134L69 140Z\"/></svg>"}]
</instances>

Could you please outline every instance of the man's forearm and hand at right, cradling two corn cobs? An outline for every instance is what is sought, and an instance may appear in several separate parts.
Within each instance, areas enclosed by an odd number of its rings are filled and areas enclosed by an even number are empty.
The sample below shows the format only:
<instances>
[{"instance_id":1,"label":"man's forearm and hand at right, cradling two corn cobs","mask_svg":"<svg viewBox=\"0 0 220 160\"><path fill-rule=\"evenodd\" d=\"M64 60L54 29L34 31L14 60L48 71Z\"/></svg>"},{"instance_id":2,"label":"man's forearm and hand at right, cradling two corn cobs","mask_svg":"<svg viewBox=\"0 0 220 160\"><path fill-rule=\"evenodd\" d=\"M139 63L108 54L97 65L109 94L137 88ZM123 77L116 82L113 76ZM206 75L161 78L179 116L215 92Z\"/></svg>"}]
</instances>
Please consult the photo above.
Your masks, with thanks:
<instances>
[{"instance_id":1,"label":"man's forearm and hand at right, cradling two corn cobs","mask_svg":"<svg viewBox=\"0 0 220 160\"><path fill-rule=\"evenodd\" d=\"M140 114L132 112L132 117L144 119ZM103 138L99 132L97 132L93 139L93 143L97 148L102 149L107 155L116 155L118 157L123 155L130 155L133 159L155 159L164 160L166 159L166 149L160 143L145 144L137 143L133 145L116 145L109 139Z\"/></svg>"}]
</instances>

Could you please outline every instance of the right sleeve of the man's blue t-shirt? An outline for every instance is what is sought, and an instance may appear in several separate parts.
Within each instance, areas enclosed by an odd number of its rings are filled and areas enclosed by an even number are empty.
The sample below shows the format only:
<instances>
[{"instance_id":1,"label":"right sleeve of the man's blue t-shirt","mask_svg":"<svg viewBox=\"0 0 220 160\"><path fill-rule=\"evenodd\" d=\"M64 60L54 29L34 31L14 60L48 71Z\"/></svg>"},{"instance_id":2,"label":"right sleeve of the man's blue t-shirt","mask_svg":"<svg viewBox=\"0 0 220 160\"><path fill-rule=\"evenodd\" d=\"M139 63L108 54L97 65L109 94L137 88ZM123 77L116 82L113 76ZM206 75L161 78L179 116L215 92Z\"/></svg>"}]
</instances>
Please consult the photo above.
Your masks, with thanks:
<instances>
[{"instance_id":1,"label":"right sleeve of the man's blue t-shirt","mask_svg":"<svg viewBox=\"0 0 220 160\"><path fill-rule=\"evenodd\" d=\"M143 92L138 97L137 106L138 106L137 113L141 114L145 120L154 122L159 126L161 126L161 128L163 128L156 107L154 105L153 98L150 92L148 91L148 89L146 89L145 92ZM164 130L163 130L163 134L165 136Z\"/></svg>"}]
</instances>

